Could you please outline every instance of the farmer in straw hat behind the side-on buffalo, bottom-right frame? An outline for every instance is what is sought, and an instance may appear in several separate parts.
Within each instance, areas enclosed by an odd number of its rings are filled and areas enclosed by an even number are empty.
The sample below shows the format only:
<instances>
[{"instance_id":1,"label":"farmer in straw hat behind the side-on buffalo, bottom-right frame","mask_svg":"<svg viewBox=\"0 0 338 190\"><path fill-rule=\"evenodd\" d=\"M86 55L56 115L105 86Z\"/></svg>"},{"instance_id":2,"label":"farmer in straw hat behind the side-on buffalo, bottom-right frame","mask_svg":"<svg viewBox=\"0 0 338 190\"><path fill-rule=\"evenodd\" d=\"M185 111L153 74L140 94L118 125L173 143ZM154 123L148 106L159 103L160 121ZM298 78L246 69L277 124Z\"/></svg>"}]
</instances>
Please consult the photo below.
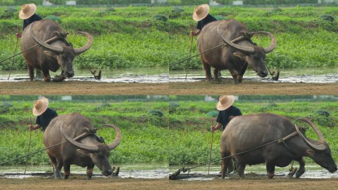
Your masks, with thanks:
<instances>
[{"instance_id":1,"label":"farmer in straw hat behind the side-on buffalo, bottom-right frame","mask_svg":"<svg viewBox=\"0 0 338 190\"><path fill-rule=\"evenodd\" d=\"M235 101L235 96L233 95L221 95L219 97L219 101L216 105L218 112L218 116L216 119L217 125L211 126L211 131L216 131L221 126L223 126L222 130L224 131L226 125L236 116L242 115L242 112L237 107L232 104ZM237 161L229 162L228 173L231 173L236 169ZM235 166L235 167L234 167Z\"/></svg>"}]
</instances>

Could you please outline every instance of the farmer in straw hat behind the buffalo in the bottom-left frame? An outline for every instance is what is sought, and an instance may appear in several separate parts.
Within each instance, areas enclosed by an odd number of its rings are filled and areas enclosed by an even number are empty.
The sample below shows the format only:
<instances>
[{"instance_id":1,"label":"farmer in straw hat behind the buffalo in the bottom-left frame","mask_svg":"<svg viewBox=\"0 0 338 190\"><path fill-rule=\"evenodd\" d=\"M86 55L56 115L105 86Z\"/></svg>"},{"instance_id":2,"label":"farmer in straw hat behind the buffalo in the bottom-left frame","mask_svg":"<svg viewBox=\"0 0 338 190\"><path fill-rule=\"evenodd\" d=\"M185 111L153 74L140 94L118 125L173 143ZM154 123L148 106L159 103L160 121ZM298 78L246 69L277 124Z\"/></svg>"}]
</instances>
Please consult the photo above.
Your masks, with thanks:
<instances>
[{"instance_id":1,"label":"farmer in straw hat behind the buffalo in the bottom-left frame","mask_svg":"<svg viewBox=\"0 0 338 190\"><path fill-rule=\"evenodd\" d=\"M48 108L48 99L42 97L34 102L33 115L38 116L36 126L29 126L29 130L37 130L42 128L42 131L46 130L50 121L57 116L56 111Z\"/></svg>"}]
</instances>

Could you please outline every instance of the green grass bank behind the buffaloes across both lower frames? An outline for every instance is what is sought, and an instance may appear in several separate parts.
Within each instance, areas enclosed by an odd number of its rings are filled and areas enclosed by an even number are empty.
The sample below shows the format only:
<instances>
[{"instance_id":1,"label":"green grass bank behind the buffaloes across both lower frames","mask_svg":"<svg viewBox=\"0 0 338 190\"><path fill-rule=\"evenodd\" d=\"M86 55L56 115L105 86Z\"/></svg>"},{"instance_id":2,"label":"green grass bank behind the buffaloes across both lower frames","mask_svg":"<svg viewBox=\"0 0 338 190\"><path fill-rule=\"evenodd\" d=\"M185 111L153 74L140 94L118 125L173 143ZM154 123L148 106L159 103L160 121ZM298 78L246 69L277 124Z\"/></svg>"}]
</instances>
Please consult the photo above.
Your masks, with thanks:
<instances>
[{"instance_id":1,"label":"green grass bank behind the buffaloes across both lower frames","mask_svg":"<svg viewBox=\"0 0 338 190\"><path fill-rule=\"evenodd\" d=\"M271 101L273 102L273 101ZM13 106L0 106L0 163L25 155L29 141L29 122L32 101L14 102ZM171 105L171 106L169 106ZM295 121L298 117L309 117L320 128L330 144L332 155L338 160L338 102L235 102L243 114L275 113ZM122 142L111 152L112 163L166 162L171 165L198 164L209 160L211 141L211 118L205 114L215 109L214 102L178 101L168 102L67 102L52 101L50 107L59 115L82 113L95 127L98 135L106 142L112 142L115 134L112 129L102 128L103 124L115 124L122 131ZM161 110L163 117L153 116L150 110ZM331 116L316 114L317 110L327 110ZM33 117L35 121L35 117ZM299 126L304 124L299 123ZM214 133L212 158L218 159L221 132ZM316 139L313 130L307 137ZM31 152L44 148L43 133L34 131ZM311 159L308 159L312 162ZM45 152L30 156L30 164L48 164ZM11 164L24 164L19 159Z\"/></svg>"}]
</instances>

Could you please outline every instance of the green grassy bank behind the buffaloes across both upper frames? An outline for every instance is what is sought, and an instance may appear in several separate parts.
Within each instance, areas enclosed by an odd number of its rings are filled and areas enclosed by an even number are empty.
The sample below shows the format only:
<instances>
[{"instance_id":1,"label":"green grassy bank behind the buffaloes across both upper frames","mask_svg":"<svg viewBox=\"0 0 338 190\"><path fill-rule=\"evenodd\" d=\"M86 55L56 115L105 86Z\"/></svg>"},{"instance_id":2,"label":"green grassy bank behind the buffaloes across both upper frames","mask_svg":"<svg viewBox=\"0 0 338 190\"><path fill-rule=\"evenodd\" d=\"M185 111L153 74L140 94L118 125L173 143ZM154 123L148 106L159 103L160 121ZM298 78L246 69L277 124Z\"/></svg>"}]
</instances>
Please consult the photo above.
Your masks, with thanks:
<instances>
[{"instance_id":1,"label":"green grassy bank behind the buffaloes across both upper frames","mask_svg":"<svg viewBox=\"0 0 338 190\"><path fill-rule=\"evenodd\" d=\"M22 25L17 12L4 13L0 8L0 59L13 53L16 26ZM129 68L167 66L186 57L190 49L190 24L193 7L120 7L76 8L39 7L42 17L56 15L66 31L86 31L93 35L92 48L83 54L91 67ZM337 21L324 20L321 16L338 16L338 7L292 8L243 8L212 7L211 14L222 18L234 18L245 23L251 31L273 32L278 47L267 56L273 67L338 66ZM155 19L163 15L167 21ZM70 36L75 46L85 43L83 37ZM266 45L268 39L255 38L258 45ZM195 42L196 43L196 42ZM195 46L196 47L196 46ZM193 54L197 49L193 49ZM80 60L75 66L84 68ZM199 58L192 61L192 68L202 68ZM0 64L9 69L10 61ZM25 68L22 57L17 57L15 69ZM182 69L179 64L172 69Z\"/></svg>"}]
</instances>

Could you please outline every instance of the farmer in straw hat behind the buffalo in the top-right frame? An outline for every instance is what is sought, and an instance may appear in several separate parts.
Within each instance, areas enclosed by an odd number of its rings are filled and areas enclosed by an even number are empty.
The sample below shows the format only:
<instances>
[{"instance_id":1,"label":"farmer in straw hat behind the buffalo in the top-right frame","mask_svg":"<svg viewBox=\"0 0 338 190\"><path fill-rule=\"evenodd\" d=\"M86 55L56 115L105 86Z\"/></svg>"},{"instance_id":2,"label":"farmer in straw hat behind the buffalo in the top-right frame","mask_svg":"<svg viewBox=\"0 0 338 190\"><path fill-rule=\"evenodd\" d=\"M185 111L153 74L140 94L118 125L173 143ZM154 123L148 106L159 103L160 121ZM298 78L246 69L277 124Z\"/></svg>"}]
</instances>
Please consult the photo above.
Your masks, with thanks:
<instances>
[{"instance_id":1,"label":"farmer in straw hat behind the buffalo in the top-right frame","mask_svg":"<svg viewBox=\"0 0 338 190\"><path fill-rule=\"evenodd\" d=\"M217 20L215 17L209 14L209 11L210 7L208 4L201 4L195 7L193 19L195 21L198 21L197 23L198 31L196 33L195 31L191 31L190 32L191 36L198 36L205 25Z\"/></svg>"}]
</instances>

